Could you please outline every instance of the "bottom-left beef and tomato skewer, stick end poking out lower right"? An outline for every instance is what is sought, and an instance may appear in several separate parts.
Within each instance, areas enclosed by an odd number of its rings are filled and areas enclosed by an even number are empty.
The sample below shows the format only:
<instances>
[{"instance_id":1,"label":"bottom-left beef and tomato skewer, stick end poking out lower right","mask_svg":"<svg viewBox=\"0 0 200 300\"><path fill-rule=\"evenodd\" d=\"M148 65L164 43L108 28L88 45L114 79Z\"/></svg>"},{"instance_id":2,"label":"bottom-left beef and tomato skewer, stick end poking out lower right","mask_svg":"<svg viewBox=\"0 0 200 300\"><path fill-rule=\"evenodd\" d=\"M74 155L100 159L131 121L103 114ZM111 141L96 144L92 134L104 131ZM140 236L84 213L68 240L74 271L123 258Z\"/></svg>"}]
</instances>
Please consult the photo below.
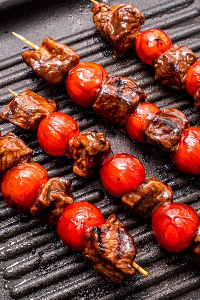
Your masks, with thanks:
<instances>
[{"instance_id":1,"label":"bottom-left beef and tomato skewer, stick end poking out lower right","mask_svg":"<svg viewBox=\"0 0 200 300\"><path fill-rule=\"evenodd\" d=\"M32 149L13 133L0 138L0 149L1 192L11 208L57 227L64 244L80 250L110 283L121 283L136 269L149 275L134 262L137 246L115 214L105 221L95 205L73 203L70 180L49 179L47 171L33 162Z\"/></svg>"}]
</instances>

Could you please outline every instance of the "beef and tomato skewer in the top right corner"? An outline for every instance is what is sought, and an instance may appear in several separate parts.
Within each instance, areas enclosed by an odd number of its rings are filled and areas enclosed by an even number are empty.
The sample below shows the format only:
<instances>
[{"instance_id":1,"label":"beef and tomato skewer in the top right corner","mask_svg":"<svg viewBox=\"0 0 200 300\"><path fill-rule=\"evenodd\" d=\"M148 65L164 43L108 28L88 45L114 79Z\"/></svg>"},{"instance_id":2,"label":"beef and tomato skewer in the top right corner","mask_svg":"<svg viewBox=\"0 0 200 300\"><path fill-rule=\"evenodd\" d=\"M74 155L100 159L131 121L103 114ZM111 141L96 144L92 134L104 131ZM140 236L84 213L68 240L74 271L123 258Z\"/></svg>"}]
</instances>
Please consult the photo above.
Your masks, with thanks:
<instances>
[{"instance_id":1,"label":"beef and tomato skewer in the top right corner","mask_svg":"<svg viewBox=\"0 0 200 300\"><path fill-rule=\"evenodd\" d=\"M132 4L109 6L91 0L93 21L100 34L114 50L114 58L122 57L135 49L139 58L153 65L155 79L194 97L200 110L200 60L187 46L173 46L169 36L160 29L148 29L140 33L145 21L143 13Z\"/></svg>"}]
</instances>

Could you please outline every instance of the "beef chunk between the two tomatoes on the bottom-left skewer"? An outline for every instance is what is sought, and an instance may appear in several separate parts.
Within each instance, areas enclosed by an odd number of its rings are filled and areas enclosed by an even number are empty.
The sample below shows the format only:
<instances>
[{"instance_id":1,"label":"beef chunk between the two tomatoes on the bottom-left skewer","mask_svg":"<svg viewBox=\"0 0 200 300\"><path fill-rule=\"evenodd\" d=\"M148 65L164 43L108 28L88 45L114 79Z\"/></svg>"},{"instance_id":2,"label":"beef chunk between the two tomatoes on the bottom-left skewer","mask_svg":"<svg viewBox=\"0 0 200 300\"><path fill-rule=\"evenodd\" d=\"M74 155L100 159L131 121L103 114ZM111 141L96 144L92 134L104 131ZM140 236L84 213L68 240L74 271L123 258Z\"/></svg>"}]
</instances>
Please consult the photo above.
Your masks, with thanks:
<instances>
[{"instance_id":1,"label":"beef chunk between the two tomatoes on the bottom-left skewer","mask_svg":"<svg viewBox=\"0 0 200 300\"><path fill-rule=\"evenodd\" d=\"M71 182L53 177L40 188L31 214L51 227L56 227L64 208L73 203Z\"/></svg>"}]
</instances>

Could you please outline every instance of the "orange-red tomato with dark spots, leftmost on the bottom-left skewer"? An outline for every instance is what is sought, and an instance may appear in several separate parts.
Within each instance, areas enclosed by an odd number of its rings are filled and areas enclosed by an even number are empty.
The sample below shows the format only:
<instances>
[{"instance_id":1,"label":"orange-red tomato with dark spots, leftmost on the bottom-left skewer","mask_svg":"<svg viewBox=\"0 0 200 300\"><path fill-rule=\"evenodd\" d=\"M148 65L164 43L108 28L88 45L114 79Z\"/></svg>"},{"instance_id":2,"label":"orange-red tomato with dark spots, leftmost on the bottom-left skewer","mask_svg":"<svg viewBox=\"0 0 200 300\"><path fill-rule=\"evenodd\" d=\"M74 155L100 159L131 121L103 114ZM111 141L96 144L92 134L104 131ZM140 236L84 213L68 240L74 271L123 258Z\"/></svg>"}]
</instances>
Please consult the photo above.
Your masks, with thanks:
<instances>
[{"instance_id":1,"label":"orange-red tomato with dark spots, leftmost on the bottom-left skewer","mask_svg":"<svg viewBox=\"0 0 200 300\"><path fill-rule=\"evenodd\" d=\"M40 187L48 179L48 173L41 165L20 164L6 173L1 192L10 207L29 212Z\"/></svg>"}]
</instances>

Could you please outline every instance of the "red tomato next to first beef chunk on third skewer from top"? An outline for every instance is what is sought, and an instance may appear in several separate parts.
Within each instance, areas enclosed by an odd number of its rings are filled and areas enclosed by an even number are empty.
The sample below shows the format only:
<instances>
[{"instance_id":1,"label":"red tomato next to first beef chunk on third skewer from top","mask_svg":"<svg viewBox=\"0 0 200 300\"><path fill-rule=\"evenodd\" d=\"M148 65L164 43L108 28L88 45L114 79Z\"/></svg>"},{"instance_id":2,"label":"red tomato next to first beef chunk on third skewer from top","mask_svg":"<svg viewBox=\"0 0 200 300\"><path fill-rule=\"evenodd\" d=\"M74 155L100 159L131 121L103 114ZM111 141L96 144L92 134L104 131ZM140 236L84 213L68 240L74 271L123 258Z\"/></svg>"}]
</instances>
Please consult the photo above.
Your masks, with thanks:
<instances>
[{"instance_id":1,"label":"red tomato next to first beef chunk on third skewer from top","mask_svg":"<svg viewBox=\"0 0 200 300\"><path fill-rule=\"evenodd\" d=\"M78 124L64 113L51 113L38 127L38 142L48 154L60 156L66 154L69 140L79 134Z\"/></svg>"}]
</instances>

